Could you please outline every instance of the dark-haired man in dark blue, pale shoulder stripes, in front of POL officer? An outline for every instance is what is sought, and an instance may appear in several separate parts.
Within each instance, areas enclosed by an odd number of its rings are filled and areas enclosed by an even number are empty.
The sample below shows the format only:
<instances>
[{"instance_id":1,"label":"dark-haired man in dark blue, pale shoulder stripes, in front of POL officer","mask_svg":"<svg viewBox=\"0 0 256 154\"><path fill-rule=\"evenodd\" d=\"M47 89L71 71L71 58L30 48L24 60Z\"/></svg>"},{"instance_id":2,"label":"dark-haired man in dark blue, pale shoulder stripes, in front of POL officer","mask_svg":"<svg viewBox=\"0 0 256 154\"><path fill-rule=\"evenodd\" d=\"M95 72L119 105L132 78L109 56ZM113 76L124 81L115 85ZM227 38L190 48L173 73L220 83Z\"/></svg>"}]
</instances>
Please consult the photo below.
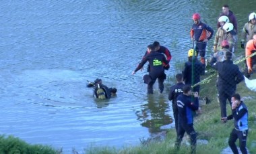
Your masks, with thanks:
<instances>
[{"instance_id":1,"label":"dark-haired man in dark blue, pale shoulder stripes, in front of POL officer","mask_svg":"<svg viewBox=\"0 0 256 154\"><path fill-rule=\"evenodd\" d=\"M191 153L195 153L197 143L197 133L193 127L193 112L199 110L198 92L191 96L191 86L183 86L183 94L177 98L178 106L178 135L175 147L179 150L181 141L187 133L191 139Z\"/></svg>"}]
</instances>

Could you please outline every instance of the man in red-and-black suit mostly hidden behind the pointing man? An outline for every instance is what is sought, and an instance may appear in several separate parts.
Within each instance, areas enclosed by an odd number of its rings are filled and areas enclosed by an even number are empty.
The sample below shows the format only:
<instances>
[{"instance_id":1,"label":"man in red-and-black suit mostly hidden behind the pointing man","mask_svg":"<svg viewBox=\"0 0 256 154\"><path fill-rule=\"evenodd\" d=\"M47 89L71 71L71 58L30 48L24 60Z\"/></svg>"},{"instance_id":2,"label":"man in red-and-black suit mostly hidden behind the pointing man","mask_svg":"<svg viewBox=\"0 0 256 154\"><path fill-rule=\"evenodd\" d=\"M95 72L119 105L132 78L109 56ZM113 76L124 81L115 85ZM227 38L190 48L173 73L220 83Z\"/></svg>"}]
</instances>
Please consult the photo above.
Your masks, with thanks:
<instances>
[{"instance_id":1,"label":"man in red-and-black suit mostly hidden behind the pointing man","mask_svg":"<svg viewBox=\"0 0 256 154\"><path fill-rule=\"evenodd\" d=\"M169 68L170 68L169 62L172 59L172 55L170 54L170 51L168 50L168 48L166 48L165 46L160 46L160 43L157 42L157 41L153 42L152 45L154 46L156 52L159 52L161 54L164 54L164 56L166 56L166 60L167 60L168 64L164 64L164 70L169 70ZM149 54L149 53L150 52L148 52L148 49L147 49L147 51L145 52L143 58L145 58L146 55ZM141 69L143 69L143 68L141 68ZM150 65L148 65L147 71L150 72Z\"/></svg>"}]
</instances>

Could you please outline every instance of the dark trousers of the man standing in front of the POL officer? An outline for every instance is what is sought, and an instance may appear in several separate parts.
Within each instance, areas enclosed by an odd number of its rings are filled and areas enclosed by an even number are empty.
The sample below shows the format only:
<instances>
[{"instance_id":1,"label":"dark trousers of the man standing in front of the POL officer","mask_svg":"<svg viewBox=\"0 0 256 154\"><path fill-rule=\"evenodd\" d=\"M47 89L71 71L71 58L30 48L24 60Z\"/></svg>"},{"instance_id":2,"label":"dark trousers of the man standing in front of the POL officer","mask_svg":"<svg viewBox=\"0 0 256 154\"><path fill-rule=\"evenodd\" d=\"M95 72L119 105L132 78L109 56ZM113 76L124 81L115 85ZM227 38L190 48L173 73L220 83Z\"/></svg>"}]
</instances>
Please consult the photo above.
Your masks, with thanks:
<instances>
[{"instance_id":1,"label":"dark trousers of the man standing in front of the POL officer","mask_svg":"<svg viewBox=\"0 0 256 154\"><path fill-rule=\"evenodd\" d=\"M179 121L180 121L180 119L179 119ZM187 133L189 135L189 138L191 141L191 153L195 153L195 148L196 148L196 144L197 144L197 133L195 132L193 124L187 125L187 124L184 124L181 122L178 123L178 135L177 135L175 147L177 147L177 149L179 149L179 147L181 146L181 141L182 141L185 133Z\"/></svg>"}]
</instances>

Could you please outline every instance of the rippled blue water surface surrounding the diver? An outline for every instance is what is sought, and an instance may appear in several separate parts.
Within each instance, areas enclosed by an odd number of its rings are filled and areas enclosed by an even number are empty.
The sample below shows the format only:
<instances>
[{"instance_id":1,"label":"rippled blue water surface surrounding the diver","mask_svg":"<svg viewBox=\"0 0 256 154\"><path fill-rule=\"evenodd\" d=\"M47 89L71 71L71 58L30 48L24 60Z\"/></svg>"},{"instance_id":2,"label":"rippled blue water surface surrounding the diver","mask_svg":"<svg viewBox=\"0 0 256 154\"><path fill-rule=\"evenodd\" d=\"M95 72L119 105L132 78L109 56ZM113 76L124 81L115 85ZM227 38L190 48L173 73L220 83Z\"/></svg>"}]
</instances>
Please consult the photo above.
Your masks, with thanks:
<instances>
[{"instance_id":1,"label":"rippled blue water surface surrounding the diver","mask_svg":"<svg viewBox=\"0 0 256 154\"><path fill-rule=\"evenodd\" d=\"M238 29L253 3L232 2ZM216 30L217 1L1 1L0 134L70 153L91 143L122 147L172 128L167 95L146 95L131 76L146 46L158 40L174 63L192 47L191 15ZM211 50L212 42L207 50ZM209 52L210 53L210 52ZM117 97L94 100L87 80L102 78ZM157 84L156 84L157 85ZM169 84L168 84L169 86Z\"/></svg>"}]
</instances>

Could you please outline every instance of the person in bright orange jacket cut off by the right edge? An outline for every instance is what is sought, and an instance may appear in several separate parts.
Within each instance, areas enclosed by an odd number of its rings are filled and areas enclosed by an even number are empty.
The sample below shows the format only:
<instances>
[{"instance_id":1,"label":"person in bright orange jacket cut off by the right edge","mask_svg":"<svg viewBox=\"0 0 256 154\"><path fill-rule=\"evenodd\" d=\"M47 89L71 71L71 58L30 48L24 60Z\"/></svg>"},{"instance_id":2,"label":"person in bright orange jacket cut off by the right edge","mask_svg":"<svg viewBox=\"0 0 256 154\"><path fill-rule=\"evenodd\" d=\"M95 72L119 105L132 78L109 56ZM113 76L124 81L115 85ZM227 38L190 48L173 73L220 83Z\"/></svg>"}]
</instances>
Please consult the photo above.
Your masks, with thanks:
<instances>
[{"instance_id":1,"label":"person in bright orange jacket cut off by the right edge","mask_svg":"<svg viewBox=\"0 0 256 154\"><path fill-rule=\"evenodd\" d=\"M246 44L245 48L245 57L251 56L251 54L256 52L256 34L253 35L253 39L249 40ZM252 57L248 57L246 59L246 70L245 70L245 76L249 78L251 74L253 73L253 65L256 64L256 55Z\"/></svg>"}]
</instances>

